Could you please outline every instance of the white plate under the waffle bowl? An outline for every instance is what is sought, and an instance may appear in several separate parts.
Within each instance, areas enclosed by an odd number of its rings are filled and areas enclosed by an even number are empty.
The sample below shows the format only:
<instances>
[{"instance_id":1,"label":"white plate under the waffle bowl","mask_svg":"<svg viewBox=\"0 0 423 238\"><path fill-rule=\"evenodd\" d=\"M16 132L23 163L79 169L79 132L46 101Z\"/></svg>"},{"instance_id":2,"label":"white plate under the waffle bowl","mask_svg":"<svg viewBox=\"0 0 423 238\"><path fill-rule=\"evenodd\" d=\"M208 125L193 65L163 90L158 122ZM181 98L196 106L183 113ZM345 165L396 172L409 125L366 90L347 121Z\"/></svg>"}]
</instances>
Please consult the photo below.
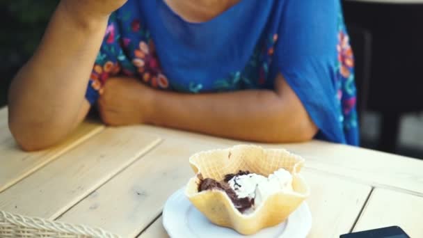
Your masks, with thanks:
<instances>
[{"instance_id":1,"label":"white plate under the waffle bowl","mask_svg":"<svg viewBox=\"0 0 423 238\"><path fill-rule=\"evenodd\" d=\"M260 230L255 235L244 236L230 228L211 223L186 198L184 189L179 189L168 198L163 208L163 226L173 238L305 238L312 226L312 216L304 202L289 216L285 223Z\"/></svg>"}]
</instances>

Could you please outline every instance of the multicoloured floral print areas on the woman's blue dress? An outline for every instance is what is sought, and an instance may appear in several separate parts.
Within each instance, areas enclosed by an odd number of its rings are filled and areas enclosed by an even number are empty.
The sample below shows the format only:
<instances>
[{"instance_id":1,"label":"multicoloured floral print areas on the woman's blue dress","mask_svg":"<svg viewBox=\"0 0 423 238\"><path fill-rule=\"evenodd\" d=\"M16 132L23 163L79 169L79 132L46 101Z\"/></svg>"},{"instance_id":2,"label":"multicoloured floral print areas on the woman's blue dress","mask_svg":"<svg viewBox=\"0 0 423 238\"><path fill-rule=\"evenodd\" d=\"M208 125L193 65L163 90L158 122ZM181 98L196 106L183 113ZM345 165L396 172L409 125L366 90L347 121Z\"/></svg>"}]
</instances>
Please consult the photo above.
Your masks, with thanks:
<instances>
[{"instance_id":1,"label":"multicoloured floral print areas on the woman's blue dress","mask_svg":"<svg viewBox=\"0 0 423 238\"><path fill-rule=\"evenodd\" d=\"M354 83L354 58L349 43L349 36L344 27L342 13L338 21L337 45L333 52L337 53L335 71L335 95L339 116L344 134L357 130L356 86ZM138 77L143 83L153 88L175 90L184 93L221 92L253 88L273 87L273 65L276 43L279 35L274 31L264 31L265 35L257 42L250 58L243 68L233 72L225 72L225 76L212 79L207 83L200 80L170 81L163 73L153 39L139 16L131 11L113 13L106 28L102 47L97 55L93 71L88 83L87 99L90 103L97 100L102 93L102 86L109 77L123 74L127 77ZM122 34L122 35L121 35ZM281 35L282 36L282 35ZM275 59L276 60L276 59ZM166 69L172 70L172 69ZM189 77L189 75L187 75ZM211 85L205 85L212 83ZM204 83L204 85L203 85ZM347 141L349 141L347 139ZM350 140L351 141L351 140Z\"/></svg>"}]
</instances>

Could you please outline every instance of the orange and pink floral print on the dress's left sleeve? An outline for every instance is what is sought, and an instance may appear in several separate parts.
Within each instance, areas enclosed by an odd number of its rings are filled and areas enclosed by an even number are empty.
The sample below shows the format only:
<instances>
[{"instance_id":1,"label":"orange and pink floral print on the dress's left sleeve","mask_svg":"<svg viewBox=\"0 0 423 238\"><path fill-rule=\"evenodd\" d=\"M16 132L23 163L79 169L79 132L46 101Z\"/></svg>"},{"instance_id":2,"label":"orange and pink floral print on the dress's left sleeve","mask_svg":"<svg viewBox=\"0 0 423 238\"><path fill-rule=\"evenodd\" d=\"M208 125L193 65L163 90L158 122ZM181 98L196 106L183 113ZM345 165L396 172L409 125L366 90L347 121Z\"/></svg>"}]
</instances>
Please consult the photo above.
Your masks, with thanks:
<instances>
[{"instance_id":1,"label":"orange and pink floral print on the dress's left sleeve","mask_svg":"<svg viewBox=\"0 0 423 238\"><path fill-rule=\"evenodd\" d=\"M130 20L129 16L124 17ZM116 19L115 14L111 15L102 47L95 60L88 82L88 86L90 86L88 90L91 90L90 95L95 95L95 92L101 95L106 80L118 74L124 74L127 77L137 76L153 88L168 89L170 84L161 70L150 33L142 27L139 19L131 19L131 24L129 24L127 30L136 33L142 40L134 41L134 38L121 38L117 29L118 25L115 23ZM129 57L124 49L134 49L134 51ZM90 100L94 102L97 97Z\"/></svg>"}]
</instances>

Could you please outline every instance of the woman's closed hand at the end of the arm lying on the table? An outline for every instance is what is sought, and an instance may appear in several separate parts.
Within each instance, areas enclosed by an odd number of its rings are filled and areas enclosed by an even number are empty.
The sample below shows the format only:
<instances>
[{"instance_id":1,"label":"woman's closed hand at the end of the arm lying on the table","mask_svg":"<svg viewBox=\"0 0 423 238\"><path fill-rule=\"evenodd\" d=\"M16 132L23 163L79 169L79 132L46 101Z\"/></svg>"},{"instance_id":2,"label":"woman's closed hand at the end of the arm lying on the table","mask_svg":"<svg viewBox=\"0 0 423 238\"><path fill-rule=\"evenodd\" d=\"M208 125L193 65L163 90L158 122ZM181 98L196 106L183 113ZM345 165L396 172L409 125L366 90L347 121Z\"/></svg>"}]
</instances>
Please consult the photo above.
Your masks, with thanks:
<instances>
[{"instance_id":1,"label":"woman's closed hand at the end of the arm lying on the table","mask_svg":"<svg viewBox=\"0 0 423 238\"><path fill-rule=\"evenodd\" d=\"M106 125L111 126L148 122L154 93L154 89L137 79L108 79L98 100L100 116Z\"/></svg>"}]
</instances>

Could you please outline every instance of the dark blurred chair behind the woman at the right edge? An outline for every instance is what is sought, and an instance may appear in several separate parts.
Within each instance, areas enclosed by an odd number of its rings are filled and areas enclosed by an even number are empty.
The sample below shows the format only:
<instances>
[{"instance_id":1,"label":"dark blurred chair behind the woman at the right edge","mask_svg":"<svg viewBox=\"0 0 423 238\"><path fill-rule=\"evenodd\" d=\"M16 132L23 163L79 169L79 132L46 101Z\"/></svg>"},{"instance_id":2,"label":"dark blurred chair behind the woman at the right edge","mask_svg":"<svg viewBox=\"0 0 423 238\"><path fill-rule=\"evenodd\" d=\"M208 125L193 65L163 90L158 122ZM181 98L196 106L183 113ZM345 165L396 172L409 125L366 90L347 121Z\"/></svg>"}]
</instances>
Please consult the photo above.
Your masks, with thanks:
<instances>
[{"instance_id":1,"label":"dark blurred chair behind the woman at the right edge","mask_svg":"<svg viewBox=\"0 0 423 238\"><path fill-rule=\"evenodd\" d=\"M395 152L401 116L423 111L423 3L343 1L347 24L372 33L367 107L381 115L378 150Z\"/></svg>"}]
</instances>

